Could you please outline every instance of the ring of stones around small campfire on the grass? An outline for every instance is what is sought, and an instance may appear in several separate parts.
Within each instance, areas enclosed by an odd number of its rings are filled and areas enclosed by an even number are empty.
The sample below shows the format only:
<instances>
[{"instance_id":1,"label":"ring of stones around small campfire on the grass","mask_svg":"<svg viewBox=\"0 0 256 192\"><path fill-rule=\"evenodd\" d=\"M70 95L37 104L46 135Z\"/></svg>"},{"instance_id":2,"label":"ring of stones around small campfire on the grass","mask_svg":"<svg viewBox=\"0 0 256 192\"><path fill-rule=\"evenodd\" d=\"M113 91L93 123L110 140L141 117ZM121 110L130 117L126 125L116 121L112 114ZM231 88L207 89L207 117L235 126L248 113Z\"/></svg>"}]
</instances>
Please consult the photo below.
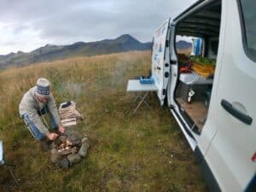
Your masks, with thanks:
<instances>
[{"instance_id":1,"label":"ring of stones around small campfire on the grass","mask_svg":"<svg viewBox=\"0 0 256 192\"><path fill-rule=\"evenodd\" d=\"M90 142L87 137L80 139L75 135L58 137L51 143L51 162L56 166L67 168L79 163L87 155Z\"/></svg>"}]
</instances>

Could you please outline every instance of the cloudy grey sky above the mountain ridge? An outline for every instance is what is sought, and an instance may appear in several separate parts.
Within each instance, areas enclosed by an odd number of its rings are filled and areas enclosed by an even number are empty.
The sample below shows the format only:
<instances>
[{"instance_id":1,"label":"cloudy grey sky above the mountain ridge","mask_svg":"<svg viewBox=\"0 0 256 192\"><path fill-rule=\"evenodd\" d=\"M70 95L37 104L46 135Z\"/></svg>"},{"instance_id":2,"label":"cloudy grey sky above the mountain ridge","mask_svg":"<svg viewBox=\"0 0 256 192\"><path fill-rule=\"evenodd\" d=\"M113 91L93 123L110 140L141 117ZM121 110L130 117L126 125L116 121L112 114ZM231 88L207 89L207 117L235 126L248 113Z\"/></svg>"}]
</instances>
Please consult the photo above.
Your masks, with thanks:
<instances>
[{"instance_id":1,"label":"cloudy grey sky above the mountain ridge","mask_svg":"<svg viewBox=\"0 0 256 192\"><path fill-rule=\"evenodd\" d=\"M0 55L45 44L73 44L154 29L195 0L0 0Z\"/></svg>"}]
</instances>

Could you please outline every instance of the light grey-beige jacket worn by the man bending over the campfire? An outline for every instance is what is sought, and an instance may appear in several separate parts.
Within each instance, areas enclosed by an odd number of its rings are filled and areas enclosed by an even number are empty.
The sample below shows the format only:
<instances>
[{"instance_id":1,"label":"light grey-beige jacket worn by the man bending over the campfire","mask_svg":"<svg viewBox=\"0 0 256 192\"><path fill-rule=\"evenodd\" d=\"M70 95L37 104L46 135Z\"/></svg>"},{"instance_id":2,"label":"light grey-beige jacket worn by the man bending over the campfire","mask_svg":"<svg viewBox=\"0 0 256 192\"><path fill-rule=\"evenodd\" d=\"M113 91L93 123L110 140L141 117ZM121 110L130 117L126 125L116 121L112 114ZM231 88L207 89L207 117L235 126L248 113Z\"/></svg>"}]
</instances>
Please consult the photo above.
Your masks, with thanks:
<instances>
[{"instance_id":1,"label":"light grey-beige jacket worn by the man bending over the campfire","mask_svg":"<svg viewBox=\"0 0 256 192\"><path fill-rule=\"evenodd\" d=\"M48 107L49 113L55 119L56 125L60 125L60 116L58 110L55 106L55 99L50 94L47 103L39 102L36 96L37 87L32 87L30 90L26 92L26 94L22 97L19 111L20 117L27 114L28 118L34 123L34 125L38 128L38 130L46 135L49 133L47 127L44 125L42 118L40 117L40 111L44 107Z\"/></svg>"}]
</instances>

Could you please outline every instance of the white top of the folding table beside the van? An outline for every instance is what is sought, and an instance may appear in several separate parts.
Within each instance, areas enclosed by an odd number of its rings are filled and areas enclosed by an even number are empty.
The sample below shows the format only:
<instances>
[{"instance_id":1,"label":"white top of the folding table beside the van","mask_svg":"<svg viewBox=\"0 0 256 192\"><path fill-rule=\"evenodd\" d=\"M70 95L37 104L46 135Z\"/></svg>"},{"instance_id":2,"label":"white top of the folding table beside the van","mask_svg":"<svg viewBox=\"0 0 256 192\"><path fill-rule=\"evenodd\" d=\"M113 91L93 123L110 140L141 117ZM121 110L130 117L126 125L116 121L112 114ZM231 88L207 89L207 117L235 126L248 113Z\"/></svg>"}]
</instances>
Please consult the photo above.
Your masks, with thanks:
<instances>
[{"instance_id":1,"label":"white top of the folding table beside the van","mask_svg":"<svg viewBox=\"0 0 256 192\"><path fill-rule=\"evenodd\" d=\"M156 91L155 84L141 84L139 79L130 79L127 84L128 92Z\"/></svg>"}]
</instances>

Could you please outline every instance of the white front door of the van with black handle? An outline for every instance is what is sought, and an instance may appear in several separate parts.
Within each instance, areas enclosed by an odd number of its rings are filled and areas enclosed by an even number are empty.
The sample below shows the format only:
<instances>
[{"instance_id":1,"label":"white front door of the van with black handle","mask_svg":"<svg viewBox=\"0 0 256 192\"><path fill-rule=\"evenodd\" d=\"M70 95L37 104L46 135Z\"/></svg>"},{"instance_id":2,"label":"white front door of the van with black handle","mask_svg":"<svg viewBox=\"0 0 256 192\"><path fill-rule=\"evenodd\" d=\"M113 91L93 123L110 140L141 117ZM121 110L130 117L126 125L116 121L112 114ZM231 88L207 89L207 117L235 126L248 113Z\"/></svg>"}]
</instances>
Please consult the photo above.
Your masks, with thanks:
<instances>
[{"instance_id":1,"label":"white front door of the van with black handle","mask_svg":"<svg viewBox=\"0 0 256 192\"><path fill-rule=\"evenodd\" d=\"M227 0L223 8L218 131L206 158L222 191L255 191L249 183L256 170L256 2Z\"/></svg>"}]
</instances>

